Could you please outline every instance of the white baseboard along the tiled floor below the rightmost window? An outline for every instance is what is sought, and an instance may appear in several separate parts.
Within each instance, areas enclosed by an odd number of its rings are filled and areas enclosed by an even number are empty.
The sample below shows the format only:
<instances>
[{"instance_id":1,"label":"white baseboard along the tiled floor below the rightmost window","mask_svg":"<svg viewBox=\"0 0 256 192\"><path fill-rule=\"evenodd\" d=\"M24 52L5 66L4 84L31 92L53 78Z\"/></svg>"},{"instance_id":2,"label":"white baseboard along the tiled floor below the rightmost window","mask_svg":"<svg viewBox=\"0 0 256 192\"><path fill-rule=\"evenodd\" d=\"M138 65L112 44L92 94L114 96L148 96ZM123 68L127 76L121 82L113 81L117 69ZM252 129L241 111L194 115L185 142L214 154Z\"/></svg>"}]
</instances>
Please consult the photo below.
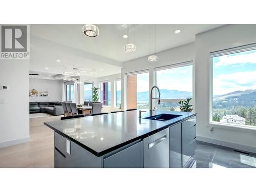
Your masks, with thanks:
<instances>
[{"instance_id":1,"label":"white baseboard along the tiled floor below the rightmost window","mask_svg":"<svg viewBox=\"0 0 256 192\"><path fill-rule=\"evenodd\" d=\"M202 136L197 136L197 140L198 141L203 141L203 142L206 142L206 143L222 145L222 146L234 148L234 149L245 151L245 152L256 153L256 147L253 147L253 146L248 146L248 145L223 141L223 140L219 140L219 139L212 139L212 138L209 138L209 137L202 137Z\"/></svg>"}]
</instances>

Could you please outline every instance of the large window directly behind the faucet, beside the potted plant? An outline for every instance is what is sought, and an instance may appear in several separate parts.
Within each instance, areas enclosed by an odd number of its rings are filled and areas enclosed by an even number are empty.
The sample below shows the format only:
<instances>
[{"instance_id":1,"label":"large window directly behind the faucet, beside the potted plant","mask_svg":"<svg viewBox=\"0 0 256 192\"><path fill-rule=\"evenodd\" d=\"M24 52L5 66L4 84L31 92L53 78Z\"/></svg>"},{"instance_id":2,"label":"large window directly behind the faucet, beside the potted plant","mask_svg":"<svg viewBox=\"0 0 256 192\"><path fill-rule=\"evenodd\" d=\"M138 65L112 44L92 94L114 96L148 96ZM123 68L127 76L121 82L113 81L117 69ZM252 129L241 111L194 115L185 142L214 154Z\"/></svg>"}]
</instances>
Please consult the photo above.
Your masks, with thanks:
<instances>
[{"instance_id":1,"label":"large window directly behind the faucet, beside the potted plant","mask_svg":"<svg viewBox=\"0 0 256 192\"><path fill-rule=\"evenodd\" d=\"M157 109L180 111L178 102L193 97L193 63L157 68L155 71L156 85L161 92L161 104Z\"/></svg>"}]
</instances>

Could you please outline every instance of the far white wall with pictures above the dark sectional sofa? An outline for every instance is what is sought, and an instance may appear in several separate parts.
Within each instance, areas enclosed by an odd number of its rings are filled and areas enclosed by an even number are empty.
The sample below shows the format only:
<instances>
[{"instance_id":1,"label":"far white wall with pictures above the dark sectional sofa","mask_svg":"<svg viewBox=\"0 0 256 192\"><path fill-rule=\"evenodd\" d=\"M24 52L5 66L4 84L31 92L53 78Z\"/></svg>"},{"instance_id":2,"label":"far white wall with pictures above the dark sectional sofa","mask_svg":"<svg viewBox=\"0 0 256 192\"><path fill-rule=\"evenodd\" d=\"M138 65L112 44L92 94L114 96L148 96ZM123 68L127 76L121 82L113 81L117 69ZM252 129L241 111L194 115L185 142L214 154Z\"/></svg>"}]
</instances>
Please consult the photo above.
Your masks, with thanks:
<instances>
[{"instance_id":1,"label":"far white wall with pictures above the dark sectional sofa","mask_svg":"<svg viewBox=\"0 0 256 192\"><path fill-rule=\"evenodd\" d=\"M49 80L29 78L29 89L48 91L48 97L29 97L29 101L61 101L62 83L61 80Z\"/></svg>"}]
</instances>

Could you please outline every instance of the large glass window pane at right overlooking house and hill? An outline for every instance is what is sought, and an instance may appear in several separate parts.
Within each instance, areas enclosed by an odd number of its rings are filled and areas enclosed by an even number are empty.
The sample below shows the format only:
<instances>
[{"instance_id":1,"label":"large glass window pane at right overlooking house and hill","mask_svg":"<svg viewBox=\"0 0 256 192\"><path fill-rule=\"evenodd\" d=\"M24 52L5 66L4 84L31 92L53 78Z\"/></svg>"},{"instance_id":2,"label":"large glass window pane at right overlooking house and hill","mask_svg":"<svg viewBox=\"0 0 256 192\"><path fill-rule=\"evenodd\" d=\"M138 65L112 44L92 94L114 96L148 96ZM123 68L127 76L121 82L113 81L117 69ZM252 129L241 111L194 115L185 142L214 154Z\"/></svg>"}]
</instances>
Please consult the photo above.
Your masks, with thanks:
<instances>
[{"instance_id":1,"label":"large glass window pane at right overlooking house and hill","mask_svg":"<svg viewBox=\"0 0 256 192\"><path fill-rule=\"evenodd\" d=\"M256 47L211 53L210 122L256 126Z\"/></svg>"}]
</instances>

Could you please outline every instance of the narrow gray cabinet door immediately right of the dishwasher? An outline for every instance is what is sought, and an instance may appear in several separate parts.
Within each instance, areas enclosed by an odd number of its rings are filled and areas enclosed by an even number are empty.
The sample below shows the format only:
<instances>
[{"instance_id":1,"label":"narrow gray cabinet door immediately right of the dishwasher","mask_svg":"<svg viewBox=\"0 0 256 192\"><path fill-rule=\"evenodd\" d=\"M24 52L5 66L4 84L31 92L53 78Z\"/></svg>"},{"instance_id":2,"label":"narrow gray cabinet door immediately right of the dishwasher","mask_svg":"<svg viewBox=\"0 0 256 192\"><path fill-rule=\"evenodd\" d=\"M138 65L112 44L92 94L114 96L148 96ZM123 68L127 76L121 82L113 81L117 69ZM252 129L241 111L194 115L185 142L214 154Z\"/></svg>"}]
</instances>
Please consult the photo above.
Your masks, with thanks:
<instances>
[{"instance_id":1,"label":"narrow gray cabinet door immediately right of the dishwasher","mask_svg":"<svg viewBox=\"0 0 256 192\"><path fill-rule=\"evenodd\" d=\"M170 130L170 168L182 167L181 123L169 127Z\"/></svg>"}]
</instances>

